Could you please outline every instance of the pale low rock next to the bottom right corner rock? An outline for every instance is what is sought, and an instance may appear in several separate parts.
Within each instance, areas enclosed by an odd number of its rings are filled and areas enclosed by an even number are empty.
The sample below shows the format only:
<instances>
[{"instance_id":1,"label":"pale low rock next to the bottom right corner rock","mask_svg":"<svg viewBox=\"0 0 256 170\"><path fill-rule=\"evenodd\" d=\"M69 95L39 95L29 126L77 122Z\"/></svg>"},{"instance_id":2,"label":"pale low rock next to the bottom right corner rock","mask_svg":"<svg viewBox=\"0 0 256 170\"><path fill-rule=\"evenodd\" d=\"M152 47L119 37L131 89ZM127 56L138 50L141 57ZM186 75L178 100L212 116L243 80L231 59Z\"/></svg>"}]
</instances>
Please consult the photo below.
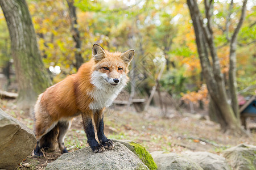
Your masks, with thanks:
<instances>
[{"instance_id":1,"label":"pale low rock next to the bottom right corner rock","mask_svg":"<svg viewBox=\"0 0 256 170\"><path fill-rule=\"evenodd\" d=\"M204 170L230 170L231 168L226 163L226 159L222 156L212 154L210 152L191 152L186 151L183 153L189 159L193 160L202 167Z\"/></svg>"}]
</instances>

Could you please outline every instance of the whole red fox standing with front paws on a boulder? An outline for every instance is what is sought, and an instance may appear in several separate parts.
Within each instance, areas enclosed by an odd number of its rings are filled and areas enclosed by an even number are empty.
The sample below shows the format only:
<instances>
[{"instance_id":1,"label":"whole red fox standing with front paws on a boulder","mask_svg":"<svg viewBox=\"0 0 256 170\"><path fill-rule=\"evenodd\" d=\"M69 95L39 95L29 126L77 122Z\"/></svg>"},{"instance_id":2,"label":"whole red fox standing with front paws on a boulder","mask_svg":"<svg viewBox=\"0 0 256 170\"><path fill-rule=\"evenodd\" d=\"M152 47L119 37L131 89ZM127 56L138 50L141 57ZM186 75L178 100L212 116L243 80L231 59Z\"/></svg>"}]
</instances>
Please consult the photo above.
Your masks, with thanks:
<instances>
[{"instance_id":1,"label":"whole red fox standing with front paws on a boulder","mask_svg":"<svg viewBox=\"0 0 256 170\"><path fill-rule=\"evenodd\" d=\"M68 152L64 146L65 134L72 118L80 114L93 152L114 148L114 143L104 134L103 110L126 86L134 50L110 53L94 44L92 53L92 59L76 74L67 76L39 95L34 108L37 139L34 155L42 156L41 148L52 148L56 138L61 154ZM100 143L95 139L93 121Z\"/></svg>"}]
</instances>

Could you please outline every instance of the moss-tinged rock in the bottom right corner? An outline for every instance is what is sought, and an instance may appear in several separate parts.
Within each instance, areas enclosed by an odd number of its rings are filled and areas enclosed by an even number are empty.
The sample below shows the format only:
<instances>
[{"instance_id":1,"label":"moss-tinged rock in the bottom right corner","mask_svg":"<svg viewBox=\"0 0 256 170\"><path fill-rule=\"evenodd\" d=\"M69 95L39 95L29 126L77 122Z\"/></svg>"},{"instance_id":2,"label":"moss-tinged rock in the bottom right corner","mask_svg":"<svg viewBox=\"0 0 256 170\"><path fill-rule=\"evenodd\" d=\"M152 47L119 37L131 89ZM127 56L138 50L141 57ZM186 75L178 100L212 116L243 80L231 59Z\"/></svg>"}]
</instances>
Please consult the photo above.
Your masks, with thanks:
<instances>
[{"instance_id":1,"label":"moss-tinged rock in the bottom right corner","mask_svg":"<svg viewBox=\"0 0 256 170\"><path fill-rule=\"evenodd\" d=\"M256 169L256 146L240 144L222 152L234 170Z\"/></svg>"}]
</instances>

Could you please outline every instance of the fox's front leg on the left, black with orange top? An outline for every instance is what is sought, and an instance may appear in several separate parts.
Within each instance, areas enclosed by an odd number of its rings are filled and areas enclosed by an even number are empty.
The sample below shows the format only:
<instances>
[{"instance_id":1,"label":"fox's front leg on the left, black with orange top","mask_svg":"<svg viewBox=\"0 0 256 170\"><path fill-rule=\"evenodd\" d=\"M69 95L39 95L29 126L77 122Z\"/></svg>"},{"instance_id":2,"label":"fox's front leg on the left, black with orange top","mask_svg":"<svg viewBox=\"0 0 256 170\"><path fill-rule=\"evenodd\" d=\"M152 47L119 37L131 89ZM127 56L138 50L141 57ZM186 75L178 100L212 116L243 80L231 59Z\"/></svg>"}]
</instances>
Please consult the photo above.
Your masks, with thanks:
<instances>
[{"instance_id":1,"label":"fox's front leg on the left, black with orange top","mask_svg":"<svg viewBox=\"0 0 256 170\"><path fill-rule=\"evenodd\" d=\"M87 136L87 142L92 148L93 152L104 152L105 148L103 145L99 144L95 139L94 127L92 122L93 112L89 111L82 113L82 122L84 124L84 130Z\"/></svg>"}]
</instances>

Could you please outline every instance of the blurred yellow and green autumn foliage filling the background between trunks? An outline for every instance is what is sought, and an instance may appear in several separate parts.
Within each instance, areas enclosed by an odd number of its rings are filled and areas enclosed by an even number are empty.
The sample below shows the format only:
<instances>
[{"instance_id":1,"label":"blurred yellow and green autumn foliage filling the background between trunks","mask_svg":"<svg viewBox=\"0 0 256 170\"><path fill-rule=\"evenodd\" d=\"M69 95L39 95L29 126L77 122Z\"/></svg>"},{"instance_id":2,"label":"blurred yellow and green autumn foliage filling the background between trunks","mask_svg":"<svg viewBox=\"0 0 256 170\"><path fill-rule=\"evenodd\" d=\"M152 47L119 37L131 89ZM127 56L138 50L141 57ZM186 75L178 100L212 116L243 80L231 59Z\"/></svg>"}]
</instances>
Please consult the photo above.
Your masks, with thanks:
<instances>
[{"instance_id":1,"label":"blurred yellow and green autumn foliage filling the background between trunks","mask_svg":"<svg viewBox=\"0 0 256 170\"><path fill-rule=\"evenodd\" d=\"M207 88L201 75L200 59L197 54L195 32L189 16L187 3L181 1L74 1L77 8L76 28L80 31L81 49L75 48L72 39L71 18L66 1L43 0L27 1L32 22L36 31L38 45L44 65L57 66L60 74L52 74L53 83L60 82L67 74L77 72L75 53L80 51L84 61L91 58L91 46L94 42L105 49L123 52L127 48L136 50L136 62L163 57L167 66L160 80L161 90L171 95L182 96L184 101L208 103ZM200 3L203 5L203 2ZM222 31L227 15L226 2L215 2L213 11L214 44L221 65L221 72L228 79L229 46ZM235 4L232 23L234 25L240 12ZM237 80L238 91L255 84L255 6L248 7L242 33L238 36ZM0 12L0 67L10 61L10 41L5 18ZM148 57L152 56L152 57ZM212 61L209 61L212 63ZM154 75L159 67L138 64L138 70ZM147 69L145 69L147 68ZM154 78L139 72L143 86L139 91L150 92ZM50 72L51 73L51 72ZM144 76L142 76L144 74ZM147 76L146 76L147 75ZM138 86L139 86L138 83ZM182 94L181 94L182 93ZM180 95L181 94L181 95ZM249 92L250 94L250 92Z\"/></svg>"}]
</instances>

